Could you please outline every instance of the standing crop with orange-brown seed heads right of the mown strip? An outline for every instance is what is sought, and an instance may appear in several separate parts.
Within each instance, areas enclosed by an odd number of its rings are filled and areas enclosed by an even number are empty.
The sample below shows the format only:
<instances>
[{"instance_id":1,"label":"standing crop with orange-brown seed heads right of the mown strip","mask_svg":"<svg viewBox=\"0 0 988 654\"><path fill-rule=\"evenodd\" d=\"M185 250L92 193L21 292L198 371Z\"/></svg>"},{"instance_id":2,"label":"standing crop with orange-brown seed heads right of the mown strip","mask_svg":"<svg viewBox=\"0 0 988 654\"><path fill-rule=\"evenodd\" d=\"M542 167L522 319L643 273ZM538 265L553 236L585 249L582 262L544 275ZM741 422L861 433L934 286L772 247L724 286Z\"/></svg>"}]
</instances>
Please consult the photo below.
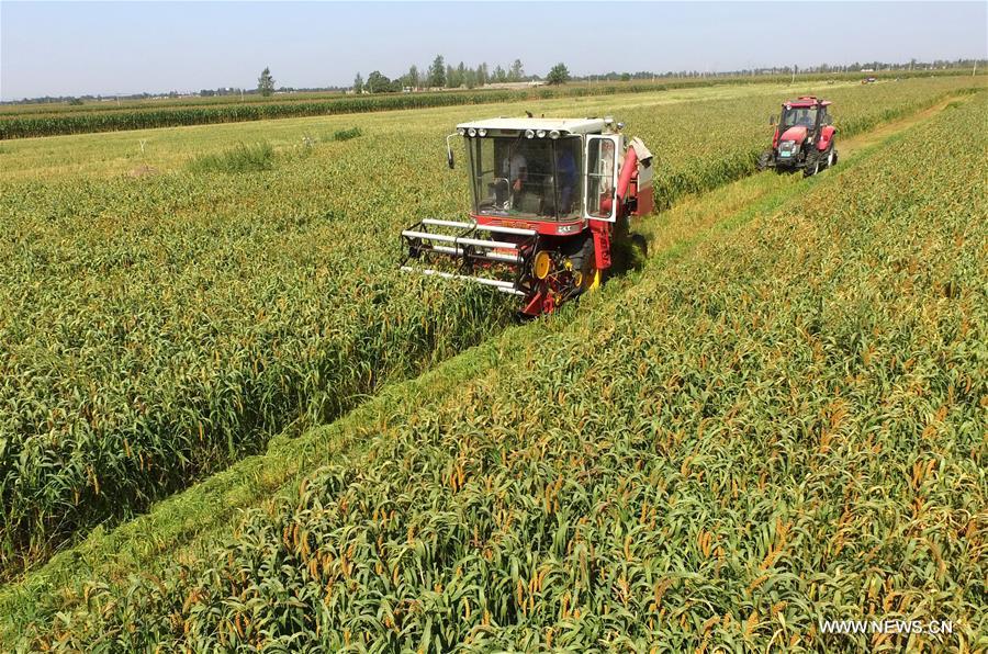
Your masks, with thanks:
<instances>
[{"instance_id":1,"label":"standing crop with orange-brown seed heads right of the mown strip","mask_svg":"<svg viewBox=\"0 0 988 654\"><path fill-rule=\"evenodd\" d=\"M220 550L94 580L31 644L905 647L819 628L882 617L953 620L970 647L988 619L986 104L368 425L363 453Z\"/></svg>"}]
</instances>

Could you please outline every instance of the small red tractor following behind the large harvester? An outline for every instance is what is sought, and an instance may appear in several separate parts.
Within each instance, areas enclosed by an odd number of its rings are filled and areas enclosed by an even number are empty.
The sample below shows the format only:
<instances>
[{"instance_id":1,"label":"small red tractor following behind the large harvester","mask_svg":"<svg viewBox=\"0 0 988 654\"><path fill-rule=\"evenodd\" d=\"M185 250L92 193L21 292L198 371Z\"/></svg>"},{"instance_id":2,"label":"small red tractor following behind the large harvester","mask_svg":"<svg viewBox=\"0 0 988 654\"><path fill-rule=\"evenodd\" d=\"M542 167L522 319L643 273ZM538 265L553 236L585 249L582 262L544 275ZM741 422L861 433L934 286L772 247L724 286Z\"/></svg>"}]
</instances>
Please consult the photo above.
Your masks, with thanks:
<instances>
[{"instance_id":1,"label":"small red tractor following behind the large harvester","mask_svg":"<svg viewBox=\"0 0 988 654\"><path fill-rule=\"evenodd\" d=\"M795 172L802 169L804 177L809 177L837 164L837 128L828 106L829 100L819 100L816 95L802 95L784 103L777 125L772 116L775 136L772 149L759 157L759 170L775 168Z\"/></svg>"}]
</instances>

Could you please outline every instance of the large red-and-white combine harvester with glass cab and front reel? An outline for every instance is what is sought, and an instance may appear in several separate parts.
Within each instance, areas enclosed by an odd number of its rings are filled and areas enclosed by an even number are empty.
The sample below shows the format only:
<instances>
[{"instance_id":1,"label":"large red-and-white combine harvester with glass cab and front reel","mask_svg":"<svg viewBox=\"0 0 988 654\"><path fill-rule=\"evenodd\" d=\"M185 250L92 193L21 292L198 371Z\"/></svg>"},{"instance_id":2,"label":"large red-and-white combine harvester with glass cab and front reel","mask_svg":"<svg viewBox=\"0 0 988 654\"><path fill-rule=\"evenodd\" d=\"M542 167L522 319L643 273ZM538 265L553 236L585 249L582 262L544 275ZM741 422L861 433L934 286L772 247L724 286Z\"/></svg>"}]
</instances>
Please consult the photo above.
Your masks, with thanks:
<instances>
[{"instance_id":1,"label":"large red-and-white combine harvester with glass cab and front reel","mask_svg":"<svg viewBox=\"0 0 988 654\"><path fill-rule=\"evenodd\" d=\"M468 280L551 313L600 283L611 240L652 211L652 154L611 119L491 119L457 125L472 207L402 232L402 270Z\"/></svg>"}]
</instances>

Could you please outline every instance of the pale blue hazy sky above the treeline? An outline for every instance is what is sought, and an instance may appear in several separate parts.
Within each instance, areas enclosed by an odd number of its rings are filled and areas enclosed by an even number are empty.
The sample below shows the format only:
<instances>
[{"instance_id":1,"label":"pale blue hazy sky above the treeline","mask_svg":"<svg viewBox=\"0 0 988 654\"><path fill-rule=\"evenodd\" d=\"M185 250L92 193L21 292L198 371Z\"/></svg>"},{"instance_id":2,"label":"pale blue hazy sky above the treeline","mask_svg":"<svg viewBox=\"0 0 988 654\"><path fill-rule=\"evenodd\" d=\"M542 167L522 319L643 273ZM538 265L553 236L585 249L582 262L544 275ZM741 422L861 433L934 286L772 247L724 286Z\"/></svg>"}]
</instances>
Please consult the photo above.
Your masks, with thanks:
<instances>
[{"instance_id":1,"label":"pale blue hazy sky above the treeline","mask_svg":"<svg viewBox=\"0 0 988 654\"><path fill-rule=\"evenodd\" d=\"M812 43L812 45L810 45ZM348 86L411 64L730 70L988 57L988 2L0 1L0 98Z\"/></svg>"}]
</instances>

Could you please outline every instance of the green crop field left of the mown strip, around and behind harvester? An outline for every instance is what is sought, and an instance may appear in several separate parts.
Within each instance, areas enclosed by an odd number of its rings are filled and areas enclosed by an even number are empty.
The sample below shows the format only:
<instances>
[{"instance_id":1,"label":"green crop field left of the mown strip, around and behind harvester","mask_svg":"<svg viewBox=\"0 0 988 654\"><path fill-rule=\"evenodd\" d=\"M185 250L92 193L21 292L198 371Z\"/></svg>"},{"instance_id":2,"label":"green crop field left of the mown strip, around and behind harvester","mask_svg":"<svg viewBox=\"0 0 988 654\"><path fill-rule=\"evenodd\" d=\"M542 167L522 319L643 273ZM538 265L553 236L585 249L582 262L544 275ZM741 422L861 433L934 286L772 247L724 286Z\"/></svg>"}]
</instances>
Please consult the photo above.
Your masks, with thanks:
<instances>
[{"instance_id":1,"label":"green crop field left of the mown strip, around and behind harvester","mask_svg":"<svg viewBox=\"0 0 988 654\"><path fill-rule=\"evenodd\" d=\"M827 93L849 135L978 81ZM614 113L672 201L752 172L793 91L673 93L515 109ZM2 144L18 162L0 174L5 574L504 327L503 298L395 270L401 227L467 206L441 138L479 111L505 105ZM259 140L260 170L222 171ZM221 171L195 171L210 155Z\"/></svg>"}]
</instances>

